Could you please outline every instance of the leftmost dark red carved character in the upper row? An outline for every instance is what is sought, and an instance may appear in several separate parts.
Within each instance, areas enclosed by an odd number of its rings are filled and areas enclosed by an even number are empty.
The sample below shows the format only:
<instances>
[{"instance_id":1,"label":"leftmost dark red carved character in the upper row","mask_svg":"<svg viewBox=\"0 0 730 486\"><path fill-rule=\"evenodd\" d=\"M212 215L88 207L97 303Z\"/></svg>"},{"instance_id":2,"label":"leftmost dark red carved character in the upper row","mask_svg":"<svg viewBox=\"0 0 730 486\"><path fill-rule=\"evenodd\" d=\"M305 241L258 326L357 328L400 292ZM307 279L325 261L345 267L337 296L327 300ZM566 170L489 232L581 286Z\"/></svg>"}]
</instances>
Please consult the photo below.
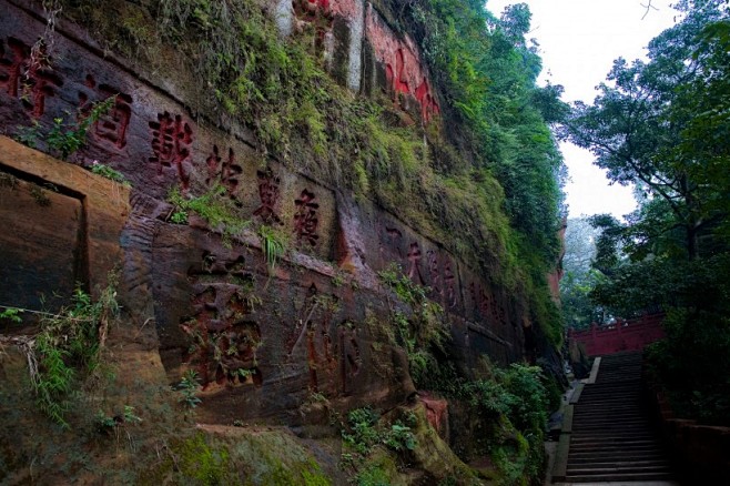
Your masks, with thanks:
<instances>
[{"instance_id":1,"label":"leftmost dark red carved character in the upper row","mask_svg":"<svg viewBox=\"0 0 730 486\"><path fill-rule=\"evenodd\" d=\"M45 99L55 95L63 81L51 69L44 44L38 44L31 55L31 49L18 39L8 38L7 43L8 52L0 43L0 87L40 118L45 112Z\"/></svg>"}]
</instances>

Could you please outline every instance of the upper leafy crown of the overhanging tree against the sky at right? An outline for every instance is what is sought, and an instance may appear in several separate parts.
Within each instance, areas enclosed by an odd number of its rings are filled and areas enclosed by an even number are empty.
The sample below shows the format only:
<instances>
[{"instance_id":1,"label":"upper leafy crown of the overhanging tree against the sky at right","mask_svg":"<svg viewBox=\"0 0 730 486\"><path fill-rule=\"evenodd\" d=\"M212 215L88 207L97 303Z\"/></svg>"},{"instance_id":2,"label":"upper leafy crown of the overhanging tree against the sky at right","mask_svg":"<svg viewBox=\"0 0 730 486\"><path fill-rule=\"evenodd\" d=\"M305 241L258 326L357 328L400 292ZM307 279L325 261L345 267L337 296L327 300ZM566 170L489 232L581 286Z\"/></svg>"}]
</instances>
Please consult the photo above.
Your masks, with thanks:
<instances>
[{"instance_id":1,"label":"upper leafy crown of the overhanging tree against the sky at right","mask_svg":"<svg viewBox=\"0 0 730 486\"><path fill-rule=\"evenodd\" d=\"M648 62L616 60L594 103L575 103L564 126L564 135L590 150L611 181L637 184L648 205L670 214L636 213L629 240L632 230L649 240L680 230L689 260L729 209L721 196L730 182L721 170L730 128L723 4L687 6L685 19L650 42Z\"/></svg>"}]
</instances>

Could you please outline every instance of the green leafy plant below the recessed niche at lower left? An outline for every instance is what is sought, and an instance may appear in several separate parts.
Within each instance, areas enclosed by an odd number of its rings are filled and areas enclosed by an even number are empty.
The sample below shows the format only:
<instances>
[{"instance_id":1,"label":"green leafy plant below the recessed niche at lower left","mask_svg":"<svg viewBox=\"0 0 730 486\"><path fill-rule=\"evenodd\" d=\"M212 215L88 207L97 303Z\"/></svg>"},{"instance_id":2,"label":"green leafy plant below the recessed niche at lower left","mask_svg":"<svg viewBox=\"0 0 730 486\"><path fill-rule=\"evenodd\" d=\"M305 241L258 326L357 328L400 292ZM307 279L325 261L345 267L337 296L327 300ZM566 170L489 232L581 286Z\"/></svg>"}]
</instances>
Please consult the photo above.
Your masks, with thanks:
<instances>
[{"instance_id":1,"label":"green leafy plant below the recessed niche at lower left","mask_svg":"<svg viewBox=\"0 0 730 486\"><path fill-rule=\"evenodd\" d=\"M97 371L110 322L119 314L115 279L110 274L97 302L77 288L70 306L40 321L29 356L31 382L40 409L64 428L71 395L81 376Z\"/></svg>"}]
</instances>

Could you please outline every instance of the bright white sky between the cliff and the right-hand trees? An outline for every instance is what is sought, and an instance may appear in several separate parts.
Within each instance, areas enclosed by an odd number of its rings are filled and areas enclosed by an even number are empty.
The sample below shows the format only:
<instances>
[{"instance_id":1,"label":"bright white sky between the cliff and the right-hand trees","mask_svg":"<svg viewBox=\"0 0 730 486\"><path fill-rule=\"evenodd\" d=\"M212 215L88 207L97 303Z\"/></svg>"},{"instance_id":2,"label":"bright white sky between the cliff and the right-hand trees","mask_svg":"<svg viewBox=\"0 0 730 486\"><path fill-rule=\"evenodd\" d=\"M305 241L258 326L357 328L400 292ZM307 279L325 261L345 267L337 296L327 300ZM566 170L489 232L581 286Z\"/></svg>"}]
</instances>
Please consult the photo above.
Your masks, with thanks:
<instances>
[{"instance_id":1,"label":"bright white sky between the cliff and the right-hand trees","mask_svg":"<svg viewBox=\"0 0 730 486\"><path fill-rule=\"evenodd\" d=\"M595 87L606 79L614 60L643 58L646 45L673 24L677 14L669 0L521 0L533 12L531 32L540 44L543 74L562 84L564 101L592 102ZM487 0L487 9L497 14L519 0ZM630 188L608 185L604 171L592 165L590 152L561 144L570 181L566 185L570 217L581 214L612 213L617 217L631 212L636 201Z\"/></svg>"}]
</instances>

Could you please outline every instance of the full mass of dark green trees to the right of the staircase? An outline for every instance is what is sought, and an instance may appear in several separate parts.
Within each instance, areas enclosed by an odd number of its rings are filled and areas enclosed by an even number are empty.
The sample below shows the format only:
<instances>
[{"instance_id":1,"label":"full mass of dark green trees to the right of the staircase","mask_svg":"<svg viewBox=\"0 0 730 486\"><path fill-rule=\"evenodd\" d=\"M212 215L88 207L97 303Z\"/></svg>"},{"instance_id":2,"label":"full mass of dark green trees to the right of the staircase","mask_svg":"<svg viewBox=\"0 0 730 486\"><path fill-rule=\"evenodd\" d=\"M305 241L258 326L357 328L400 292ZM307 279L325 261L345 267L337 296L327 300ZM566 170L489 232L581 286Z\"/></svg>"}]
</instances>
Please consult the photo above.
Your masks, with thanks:
<instances>
[{"instance_id":1,"label":"full mass of dark green trees to the right of the staircase","mask_svg":"<svg viewBox=\"0 0 730 486\"><path fill-rule=\"evenodd\" d=\"M576 102L561 134L596 155L639 207L601 229L595 305L630 317L667 313L651 350L677 411L730 416L730 16L721 0L681 1L681 20L648 60L617 59L592 104Z\"/></svg>"}]
</instances>

